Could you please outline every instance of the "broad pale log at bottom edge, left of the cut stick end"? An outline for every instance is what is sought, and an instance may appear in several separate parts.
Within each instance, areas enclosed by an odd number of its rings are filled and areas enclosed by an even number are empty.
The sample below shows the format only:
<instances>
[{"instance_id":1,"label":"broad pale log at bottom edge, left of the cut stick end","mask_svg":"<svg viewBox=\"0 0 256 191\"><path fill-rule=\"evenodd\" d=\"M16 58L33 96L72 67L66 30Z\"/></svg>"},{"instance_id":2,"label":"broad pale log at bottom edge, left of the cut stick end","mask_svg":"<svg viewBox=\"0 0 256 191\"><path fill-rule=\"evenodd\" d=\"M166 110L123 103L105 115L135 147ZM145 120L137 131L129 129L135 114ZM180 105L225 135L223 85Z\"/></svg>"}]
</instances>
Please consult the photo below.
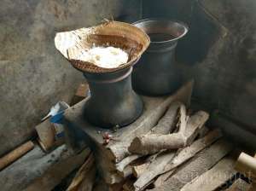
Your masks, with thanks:
<instances>
[{"instance_id":1,"label":"broad pale log at bottom edge, left of the cut stick end","mask_svg":"<svg viewBox=\"0 0 256 191\"><path fill-rule=\"evenodd\" d=\"M224 158L212 169L187 183L181 191L214 191L236 175L235 160Z\"/></svg>"}]
</instances>

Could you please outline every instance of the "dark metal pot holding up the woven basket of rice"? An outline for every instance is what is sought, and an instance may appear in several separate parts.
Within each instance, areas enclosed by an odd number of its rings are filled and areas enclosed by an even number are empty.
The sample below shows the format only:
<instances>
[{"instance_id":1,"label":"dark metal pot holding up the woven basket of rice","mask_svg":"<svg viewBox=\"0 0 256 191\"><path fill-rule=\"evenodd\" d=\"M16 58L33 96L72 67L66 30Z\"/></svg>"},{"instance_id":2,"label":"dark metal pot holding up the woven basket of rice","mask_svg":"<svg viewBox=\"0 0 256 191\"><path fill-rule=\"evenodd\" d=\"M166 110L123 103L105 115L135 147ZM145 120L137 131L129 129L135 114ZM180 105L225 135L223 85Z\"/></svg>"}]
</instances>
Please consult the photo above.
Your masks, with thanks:
<instances>
[{"instance_id":1,"label":"dark metal pot holding up the woven basket of rice","mask_svg":"<svg viewBox=\"0 0 256 191\"><path fill-rule=\"evenodd\" d=\"M131 124L143 113L143 101L131 88L132 67L116 72L84 72L90 86L90 100L84 116L90 124L113 128Z\"/></svg>"}]
</instances>

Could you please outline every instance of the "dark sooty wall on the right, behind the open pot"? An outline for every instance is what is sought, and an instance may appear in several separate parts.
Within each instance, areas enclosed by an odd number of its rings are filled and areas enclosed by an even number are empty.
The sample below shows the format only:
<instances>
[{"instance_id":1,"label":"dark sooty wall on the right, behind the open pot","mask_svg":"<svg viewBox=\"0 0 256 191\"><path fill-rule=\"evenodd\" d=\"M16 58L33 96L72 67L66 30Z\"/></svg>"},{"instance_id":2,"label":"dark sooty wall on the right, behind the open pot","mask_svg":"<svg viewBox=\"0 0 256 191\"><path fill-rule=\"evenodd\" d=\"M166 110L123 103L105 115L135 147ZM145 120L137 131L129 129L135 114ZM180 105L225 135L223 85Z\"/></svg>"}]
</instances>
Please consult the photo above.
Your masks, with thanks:
<instances>
[{"instance_id":1,"label":"dark sooty wall on the right, behind the open pot","mask_svg":"<svg viewBox=\"0 0 256 191\"><path fill-rule=\"evenodd\" d=\"M143 17L183 20L179 42L183 78L195 78L194 98L256 133L256 2L145 0Z\"/></svg>"}]
</instances>

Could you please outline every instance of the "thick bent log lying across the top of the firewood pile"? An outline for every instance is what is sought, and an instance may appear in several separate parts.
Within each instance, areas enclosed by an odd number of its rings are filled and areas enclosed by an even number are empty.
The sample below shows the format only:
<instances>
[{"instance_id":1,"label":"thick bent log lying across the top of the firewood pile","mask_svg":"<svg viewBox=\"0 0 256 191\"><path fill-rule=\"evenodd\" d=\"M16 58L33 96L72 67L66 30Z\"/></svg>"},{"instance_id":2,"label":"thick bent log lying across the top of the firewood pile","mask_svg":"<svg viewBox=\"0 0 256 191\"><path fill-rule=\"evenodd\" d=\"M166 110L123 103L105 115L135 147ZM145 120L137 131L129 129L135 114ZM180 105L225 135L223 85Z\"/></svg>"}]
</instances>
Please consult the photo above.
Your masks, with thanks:
<instances>
[{"instance_id":1,"label":"thick bent log lying across the top of the firewood pile","mask_svg":"<svg viewBox=\"0 0 256 191\"><path fill-rule=\"evenodd\" d=\"M189 118L184 133L178 132L170 135L137 136L131 142L129 151L131 153L146 155L150 153L157 153L162 149L184 148L193 142L208 118L208 113L200 111Z\"/></svg>"}]
</instances>

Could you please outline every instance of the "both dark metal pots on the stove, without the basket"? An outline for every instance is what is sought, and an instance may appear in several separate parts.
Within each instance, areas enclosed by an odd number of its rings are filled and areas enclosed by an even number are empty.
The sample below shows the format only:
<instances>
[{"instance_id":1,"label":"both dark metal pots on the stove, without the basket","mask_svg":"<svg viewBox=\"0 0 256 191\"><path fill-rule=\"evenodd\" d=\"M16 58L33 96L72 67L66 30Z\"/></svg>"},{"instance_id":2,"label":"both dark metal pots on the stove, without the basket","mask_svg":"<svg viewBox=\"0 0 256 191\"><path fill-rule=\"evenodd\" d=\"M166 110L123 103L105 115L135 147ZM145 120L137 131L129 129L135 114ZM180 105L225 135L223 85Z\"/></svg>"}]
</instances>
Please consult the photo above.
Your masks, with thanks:
<instances>
[{"instance_id":1,"label":"both dark metal pots on the stove, without the basket","mask_svg":"<svg viewBox=\"0 0 256 191\"><path fill-rule=\"evenodd\" d=\"M103 128L131 124L143 113L143 101L135 91L146 96L161 96L172 93L181 84L175 48L188 27L181 22L152 19L133 25L151 38L137 65L115 72L84 72L90 86L84 116L91 124Z\"/></svg>"}]
</instances>

